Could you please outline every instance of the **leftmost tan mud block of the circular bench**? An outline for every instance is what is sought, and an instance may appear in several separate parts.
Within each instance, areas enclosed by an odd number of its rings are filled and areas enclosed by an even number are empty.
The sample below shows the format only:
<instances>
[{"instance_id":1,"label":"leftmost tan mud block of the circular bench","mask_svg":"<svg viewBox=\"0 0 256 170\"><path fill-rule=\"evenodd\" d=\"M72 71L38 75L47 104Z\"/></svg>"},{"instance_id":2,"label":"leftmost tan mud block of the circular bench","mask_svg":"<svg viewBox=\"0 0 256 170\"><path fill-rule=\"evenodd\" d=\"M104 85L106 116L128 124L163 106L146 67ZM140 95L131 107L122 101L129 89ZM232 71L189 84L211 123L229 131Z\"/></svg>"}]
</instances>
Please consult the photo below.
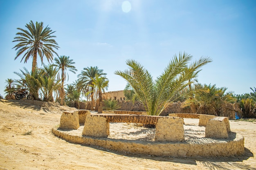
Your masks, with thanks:
<instances>
[{"instance_id":1,"label":"leftmost tan mud block of the circular bench","mask_svg":"<svg viewBox=\"0 0 256 170\"><path fill-rule=\"evenodd\" d=\"M79 128L79 115L78 111L63 112L59 128L65 129L78 129Z\"/></svg>"}]
</instances>

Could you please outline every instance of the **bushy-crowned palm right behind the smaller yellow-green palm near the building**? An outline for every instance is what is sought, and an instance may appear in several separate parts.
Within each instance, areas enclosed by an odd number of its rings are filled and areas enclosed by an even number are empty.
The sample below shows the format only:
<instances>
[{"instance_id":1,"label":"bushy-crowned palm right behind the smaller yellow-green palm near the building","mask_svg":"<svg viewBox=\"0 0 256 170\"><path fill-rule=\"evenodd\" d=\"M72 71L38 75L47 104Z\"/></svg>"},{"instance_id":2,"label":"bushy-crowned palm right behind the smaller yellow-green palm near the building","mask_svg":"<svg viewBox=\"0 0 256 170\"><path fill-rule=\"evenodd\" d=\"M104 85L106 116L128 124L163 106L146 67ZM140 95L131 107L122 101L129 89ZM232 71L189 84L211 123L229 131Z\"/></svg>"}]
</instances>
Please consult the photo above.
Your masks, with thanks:
<instances>
[{"instance_id":1,"label":"bushy-crowned palm right behind the smaller yellow-green palm near the building","mask_svg":"<svg viewBox=\"0 0 256 170\"><path fill-rule=\"evenodd\" d=\"M99 69L97 66L90 66L87 68L83 68L81 74L78 75L79 79L83 82L83 93L85 97L91 100L91 108L90 110L94 110L94 85L92 84L93 80L95 79L96 75L99 77L106 75L103 73L103 69Z\"/></svg>"}]
</instances>

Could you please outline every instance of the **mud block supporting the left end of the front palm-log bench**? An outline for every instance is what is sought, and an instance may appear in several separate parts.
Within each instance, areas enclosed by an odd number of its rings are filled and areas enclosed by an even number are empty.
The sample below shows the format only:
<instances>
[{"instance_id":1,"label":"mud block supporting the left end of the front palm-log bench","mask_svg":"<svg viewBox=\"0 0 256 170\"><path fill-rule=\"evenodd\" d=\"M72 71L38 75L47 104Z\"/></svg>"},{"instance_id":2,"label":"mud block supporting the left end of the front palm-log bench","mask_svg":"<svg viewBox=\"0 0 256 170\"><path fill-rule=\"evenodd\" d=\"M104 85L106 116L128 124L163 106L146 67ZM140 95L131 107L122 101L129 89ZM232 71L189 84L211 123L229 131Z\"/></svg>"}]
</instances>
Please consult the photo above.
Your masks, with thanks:
<instances>
[{"instance_id":1,"label":"mud block supporting the left end of the front palm-log bench","mask_svg":"<svg viewBox=\"0 0 256 170\"><path fill-rule=\"evenodd\" d=\"M87 115L82 135L90 137L108 137L109 123L100 115Z\"/></svg>"}]
</instances>

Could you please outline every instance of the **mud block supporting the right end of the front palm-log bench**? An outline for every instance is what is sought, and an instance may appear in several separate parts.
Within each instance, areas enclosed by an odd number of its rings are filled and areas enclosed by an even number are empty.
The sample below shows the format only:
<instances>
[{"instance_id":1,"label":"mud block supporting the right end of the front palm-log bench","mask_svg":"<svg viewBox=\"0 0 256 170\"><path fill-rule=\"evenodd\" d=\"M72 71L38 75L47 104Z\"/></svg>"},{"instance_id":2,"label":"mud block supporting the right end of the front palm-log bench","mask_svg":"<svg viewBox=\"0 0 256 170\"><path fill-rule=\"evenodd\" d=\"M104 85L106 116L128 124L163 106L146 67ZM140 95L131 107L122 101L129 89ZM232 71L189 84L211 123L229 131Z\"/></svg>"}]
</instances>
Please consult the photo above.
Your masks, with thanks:
<instances>
[{"instance_id":1,"label":"mud block supporting the right end of the front palm-log bench","mask_svg":"<svg viewBox=\"0 0 256 170\"><path fill-rule=\"evenodd\" d=\"M183 141L183 123L181 117L159 117L155 126L155 141Z\"/></svg>"}]
</instances>

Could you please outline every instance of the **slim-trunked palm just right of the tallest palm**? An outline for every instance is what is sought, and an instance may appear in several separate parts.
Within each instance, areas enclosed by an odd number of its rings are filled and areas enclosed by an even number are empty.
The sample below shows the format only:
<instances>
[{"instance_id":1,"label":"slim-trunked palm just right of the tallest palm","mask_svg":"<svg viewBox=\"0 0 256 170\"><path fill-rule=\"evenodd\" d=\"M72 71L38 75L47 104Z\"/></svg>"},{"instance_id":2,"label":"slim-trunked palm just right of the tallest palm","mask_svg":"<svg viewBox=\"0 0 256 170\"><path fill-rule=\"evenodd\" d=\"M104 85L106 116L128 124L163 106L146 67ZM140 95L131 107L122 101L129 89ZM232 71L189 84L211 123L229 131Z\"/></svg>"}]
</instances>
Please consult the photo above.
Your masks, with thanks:
<instances>
[{"instance_id":1,"label":"slim-trunked palm just right of the tallest palm","mask_svg":"<svg viewBox=\"0 0 256 170\"><path fill-rule=\"evenodd\" d=\"M61 79L61 91L63 93L61 93L61 105L65 104L64 103L64 98L65 98L65 91L64 91L64 82L66 80L66 75L67 75L67 79L68 79L68 74L66 73L67 70L71 71L72 73L76 73L76 67L73 66L72 64L75 64L75 62L73 62L73 60L70 59L69 56L65 56L65 55L61 55L60 57L55 57L54 61L56 64L54 64L55 66L58 67L59 73L58 73L58 77L59 79Z\"/></svg>"}]
</instances>

